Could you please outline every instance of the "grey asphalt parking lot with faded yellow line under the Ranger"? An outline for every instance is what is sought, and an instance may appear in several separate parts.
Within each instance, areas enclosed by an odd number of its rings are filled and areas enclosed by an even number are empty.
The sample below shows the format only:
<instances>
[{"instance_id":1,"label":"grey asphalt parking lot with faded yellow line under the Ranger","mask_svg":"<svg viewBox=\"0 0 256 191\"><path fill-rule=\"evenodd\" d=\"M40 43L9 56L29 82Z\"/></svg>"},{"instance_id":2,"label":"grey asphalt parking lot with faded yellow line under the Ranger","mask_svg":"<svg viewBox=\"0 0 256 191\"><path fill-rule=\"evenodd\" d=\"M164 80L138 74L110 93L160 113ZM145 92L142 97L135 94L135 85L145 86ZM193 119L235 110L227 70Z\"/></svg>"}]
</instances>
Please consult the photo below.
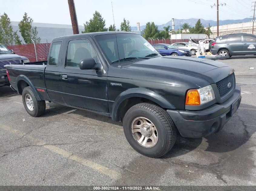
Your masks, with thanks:
<instances>
[{"instance_id":1,"label":"grey asphalt parking lot with faded yellow line under the Ranger","mask_svg":"<svg viewBox=\"0 0 256 191\"><path fill-rule=\"evenodd\" d=\"M138 154L122 124L46 102L33 118L0 88L0 185L256 185L256 56L222 60L241 86L238 111L204 138L179 137L163 158ZM248 67L255 67L249 70Z\"/></svg>"}]
</instances>

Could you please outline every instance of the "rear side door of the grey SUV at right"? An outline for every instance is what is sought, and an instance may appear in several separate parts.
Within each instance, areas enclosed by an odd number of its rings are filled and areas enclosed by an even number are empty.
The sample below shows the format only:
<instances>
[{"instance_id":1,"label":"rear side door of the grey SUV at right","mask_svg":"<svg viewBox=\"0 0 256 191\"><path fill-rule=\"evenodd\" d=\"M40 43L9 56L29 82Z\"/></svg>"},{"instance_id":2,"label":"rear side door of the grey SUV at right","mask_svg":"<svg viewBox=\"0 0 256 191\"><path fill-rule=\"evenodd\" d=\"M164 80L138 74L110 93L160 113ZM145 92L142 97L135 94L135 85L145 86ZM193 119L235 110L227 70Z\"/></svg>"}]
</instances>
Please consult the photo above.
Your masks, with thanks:
<instances>
[{"instance_id":1,"label":"rear side door of the grey SUV at right","mask_svg":"<svg viewBox=\"0 0 256 191\"><path fill-rule=\"evenodd\" d=\"M241 35L230 36L225 44L226 47L231 51L232 54L241 54L242 53L242 40Z\"/></svg>"}]
</instances>

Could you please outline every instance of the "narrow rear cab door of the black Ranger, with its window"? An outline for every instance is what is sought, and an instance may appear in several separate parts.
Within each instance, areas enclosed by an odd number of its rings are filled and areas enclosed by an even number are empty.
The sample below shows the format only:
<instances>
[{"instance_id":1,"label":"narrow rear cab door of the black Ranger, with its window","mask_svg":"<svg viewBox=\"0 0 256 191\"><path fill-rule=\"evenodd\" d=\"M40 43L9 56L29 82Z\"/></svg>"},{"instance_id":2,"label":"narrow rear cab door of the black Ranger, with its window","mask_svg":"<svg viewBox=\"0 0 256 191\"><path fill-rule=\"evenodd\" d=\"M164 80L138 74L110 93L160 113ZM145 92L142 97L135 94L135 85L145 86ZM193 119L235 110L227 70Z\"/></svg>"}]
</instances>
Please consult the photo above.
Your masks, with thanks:
<instances>
[{"instance_id":1,"label":"narrow rear cab door of the black Ranger, with its window","mask_svg":"<svg viewBox=\"0 0 256 191\"><path fill-rule=\"evenodd\" d=\"M60 92L62 91L60 85L62 78L58 72L62 64L60 59L61 49L62 41L52 43L47 67L45 68L45 84L51 100L63 103L63 100L59 98Z\"/></svg>"}]
</instances>

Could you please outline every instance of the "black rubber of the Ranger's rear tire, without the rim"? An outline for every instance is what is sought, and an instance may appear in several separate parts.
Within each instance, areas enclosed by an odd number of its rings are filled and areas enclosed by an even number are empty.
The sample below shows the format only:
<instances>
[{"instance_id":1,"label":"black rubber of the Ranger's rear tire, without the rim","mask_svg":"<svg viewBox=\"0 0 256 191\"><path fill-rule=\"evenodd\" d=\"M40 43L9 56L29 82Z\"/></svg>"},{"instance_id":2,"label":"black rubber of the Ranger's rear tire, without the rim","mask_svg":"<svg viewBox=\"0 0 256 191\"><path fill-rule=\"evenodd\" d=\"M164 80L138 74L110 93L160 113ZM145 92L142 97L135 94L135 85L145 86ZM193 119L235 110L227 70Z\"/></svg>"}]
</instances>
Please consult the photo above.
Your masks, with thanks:
<instances>
[{"instance_id":1,"label":"black rubber of the Ranger's rear tire, without the rim","mask_svg":"<svg viewBox=\"0 0 256 191\"><path fill-rule=\"evenodd\" d=\"M27 103L26 103L26 100L25 100L26 95L28 97L30 96L33 100L34 108L32 108L32 110L30 110L27 106ZM38 116L41 116L45 113L45 100L39 101L36 98L33 90L29 86L24 88L23 91L22 91L22 101L23 101L23 105L25 107L25 110L28 112L29 115L31 115L33 117L38 117Z\"/></svg>"}]
</instances>

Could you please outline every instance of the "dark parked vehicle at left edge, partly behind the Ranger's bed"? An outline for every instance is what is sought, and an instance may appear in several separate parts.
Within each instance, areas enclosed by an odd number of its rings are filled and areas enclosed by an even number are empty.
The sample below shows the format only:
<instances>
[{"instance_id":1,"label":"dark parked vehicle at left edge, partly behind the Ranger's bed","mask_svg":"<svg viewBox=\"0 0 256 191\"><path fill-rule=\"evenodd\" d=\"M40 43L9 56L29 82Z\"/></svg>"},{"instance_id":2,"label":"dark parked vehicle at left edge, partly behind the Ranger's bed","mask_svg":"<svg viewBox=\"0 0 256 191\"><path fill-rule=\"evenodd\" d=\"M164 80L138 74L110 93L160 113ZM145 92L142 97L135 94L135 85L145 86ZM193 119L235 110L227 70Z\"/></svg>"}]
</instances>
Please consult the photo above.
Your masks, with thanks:
<instances>
[{"instance_id":1,"label":"dark parked vehicle at left edge, partly behind the Ranger's bed","mask_svg":"<svg viewBox=\"0 0 256 191\"><path fill-rule=\"evenodd\" d=\"M6 46L0 44L0 87L10 85L4 65L10 63L20 64L27 62L29 62L29 60L26 57L18 56L13 52L13 50L9 50Z\"/></svg>"}]
</instances>

